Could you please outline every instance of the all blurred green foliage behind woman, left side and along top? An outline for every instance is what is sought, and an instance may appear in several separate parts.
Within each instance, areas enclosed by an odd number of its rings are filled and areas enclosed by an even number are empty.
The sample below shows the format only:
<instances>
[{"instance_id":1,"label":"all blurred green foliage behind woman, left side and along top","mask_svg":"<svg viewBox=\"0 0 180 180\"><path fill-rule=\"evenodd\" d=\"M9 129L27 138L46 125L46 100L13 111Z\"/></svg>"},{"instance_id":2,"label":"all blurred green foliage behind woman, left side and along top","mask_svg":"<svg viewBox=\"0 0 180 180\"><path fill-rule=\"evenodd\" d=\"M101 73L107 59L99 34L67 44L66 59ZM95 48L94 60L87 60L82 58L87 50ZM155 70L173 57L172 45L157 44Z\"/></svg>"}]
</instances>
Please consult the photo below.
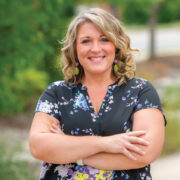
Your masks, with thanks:
<instances>
[{"instance_id":1,"label":"all blurred green foliage behind woman, left side and along top","mask_svg":"<svg viewBox=\"0 0 180 180\"><path fill-rule=\"evenodd\" d=\"M134 24L146 23L149 5L159 1L160 22L180 19L179 0L1 0L0 115L28 109L49 82L63 78L58 42L77 5L109 3L119 18Z\"/></svg>"}]
</instances>

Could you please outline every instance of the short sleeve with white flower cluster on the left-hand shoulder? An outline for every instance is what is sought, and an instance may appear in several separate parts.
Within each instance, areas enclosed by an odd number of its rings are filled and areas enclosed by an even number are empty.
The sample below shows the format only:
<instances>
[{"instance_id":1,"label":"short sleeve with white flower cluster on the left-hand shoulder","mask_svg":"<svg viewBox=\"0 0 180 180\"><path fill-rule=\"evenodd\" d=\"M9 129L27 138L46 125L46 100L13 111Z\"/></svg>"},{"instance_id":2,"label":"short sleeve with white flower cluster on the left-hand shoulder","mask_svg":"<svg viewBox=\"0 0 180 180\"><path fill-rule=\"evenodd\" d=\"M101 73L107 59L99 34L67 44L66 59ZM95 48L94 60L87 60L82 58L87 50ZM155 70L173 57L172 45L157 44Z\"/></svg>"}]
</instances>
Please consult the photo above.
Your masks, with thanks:
<instances>
[{"instance_id":1,"label":"short sleeve with white flower cluster on the left-hand shoulder","mask_svg":"<svg viewBox=\"0 0 180 180\"><path fill-rule=\"evenodd\" d=\"M60 111L56 91L56 86L53 85L53 83L49 85L40 96L36 105L35 112L44 112L55 117L56 119L60 119Z\"/></svg>"}]
</instances>

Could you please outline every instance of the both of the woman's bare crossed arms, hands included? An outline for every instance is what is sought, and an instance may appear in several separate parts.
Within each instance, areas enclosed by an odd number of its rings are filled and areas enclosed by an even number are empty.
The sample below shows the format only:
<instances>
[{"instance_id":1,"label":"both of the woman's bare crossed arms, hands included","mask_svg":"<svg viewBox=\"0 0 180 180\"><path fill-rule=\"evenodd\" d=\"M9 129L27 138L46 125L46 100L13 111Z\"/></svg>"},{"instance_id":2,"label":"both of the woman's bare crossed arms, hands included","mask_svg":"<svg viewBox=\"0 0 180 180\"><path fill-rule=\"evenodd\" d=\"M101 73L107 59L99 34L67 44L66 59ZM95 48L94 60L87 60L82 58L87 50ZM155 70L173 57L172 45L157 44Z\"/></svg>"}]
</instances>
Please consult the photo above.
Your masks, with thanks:
<instances>
[{"instance_id":1,"label":"both of the woman's bare crossed arms, hands included","mask_svg":"<svg viewBox=\"0 0 180 180\"><path fill-rule=\"evenodd\" d=\"M37 159L65 164L82 158L84 164L98 169L136 169L155 160L164 142L164 119L154 108L134 114L132 132L108 137L55 133L53 124L58 123L45 113L35 114L29 142L31 153Z\"/></svg>"}]
</instances>

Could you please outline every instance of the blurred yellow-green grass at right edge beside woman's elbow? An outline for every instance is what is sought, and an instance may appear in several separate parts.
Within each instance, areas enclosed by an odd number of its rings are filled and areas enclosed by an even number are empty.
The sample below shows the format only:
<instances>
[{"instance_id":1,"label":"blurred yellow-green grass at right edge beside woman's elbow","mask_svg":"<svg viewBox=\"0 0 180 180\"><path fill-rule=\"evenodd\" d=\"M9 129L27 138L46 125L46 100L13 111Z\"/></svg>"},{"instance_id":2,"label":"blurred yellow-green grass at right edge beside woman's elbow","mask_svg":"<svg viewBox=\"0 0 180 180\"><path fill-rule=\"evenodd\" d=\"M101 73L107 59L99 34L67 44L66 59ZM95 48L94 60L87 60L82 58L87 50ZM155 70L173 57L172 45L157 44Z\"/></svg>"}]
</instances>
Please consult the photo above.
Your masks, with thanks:
<instances>
[{"instance_id":1,"label":"blurred yellow-green grass at right edge beside woman's elbow","mask_svg":"<svg viewBox=\"0 0 180 180\"><path fill-rule=\"evenodd\" d=\"M164 110L167 119L166 137L162 155L180 150L180 86L166 88Z\"/></svg>"}]
</instances>

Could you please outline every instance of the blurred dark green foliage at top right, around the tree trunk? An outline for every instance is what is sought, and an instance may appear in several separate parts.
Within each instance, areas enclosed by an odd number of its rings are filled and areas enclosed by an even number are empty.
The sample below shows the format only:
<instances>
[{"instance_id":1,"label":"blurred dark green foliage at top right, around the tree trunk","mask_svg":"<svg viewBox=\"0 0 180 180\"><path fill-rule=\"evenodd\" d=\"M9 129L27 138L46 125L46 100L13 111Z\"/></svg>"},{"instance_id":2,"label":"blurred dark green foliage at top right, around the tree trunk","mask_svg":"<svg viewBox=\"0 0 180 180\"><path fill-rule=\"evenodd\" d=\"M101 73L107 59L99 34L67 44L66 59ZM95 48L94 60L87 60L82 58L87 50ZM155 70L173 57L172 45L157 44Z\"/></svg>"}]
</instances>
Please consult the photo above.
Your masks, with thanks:
<instances>
[{"instance_id":1,"label":"blurred dark green foliage at top right, around the tree trunk","mask_svg":"<svg viewBox=\"0 0 180 180\"><path fill-rule=\"evenodd\" d=\"M106 0L110 3L110 0ZM179 0L111 0L111 4L119 9L121 18L126 24L146 24L149 22L151 7L161 4L158 12L158 22L167 23L180 21Z\"/></svg>"}]
</instances>

